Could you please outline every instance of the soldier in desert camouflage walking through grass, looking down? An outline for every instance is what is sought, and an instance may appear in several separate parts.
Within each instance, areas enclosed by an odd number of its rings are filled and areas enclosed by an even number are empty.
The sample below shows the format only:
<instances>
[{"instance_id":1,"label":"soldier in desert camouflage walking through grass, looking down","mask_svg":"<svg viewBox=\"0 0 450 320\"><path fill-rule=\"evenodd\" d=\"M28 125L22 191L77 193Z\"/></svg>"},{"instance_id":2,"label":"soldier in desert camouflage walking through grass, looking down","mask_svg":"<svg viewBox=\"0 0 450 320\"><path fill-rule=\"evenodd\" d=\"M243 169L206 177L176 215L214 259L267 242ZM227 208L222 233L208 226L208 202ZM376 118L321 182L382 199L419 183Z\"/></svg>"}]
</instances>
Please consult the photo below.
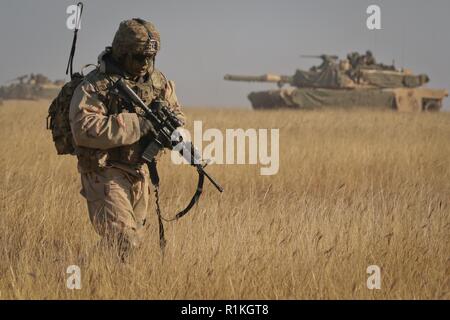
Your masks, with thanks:
<instances>
[{"instance_id":1,"label":"soldier in desert camouflage walking through grass, looking down","mask_svg":"<svg viewBox=\"0 0 450 320\"><path fill-rule=\"evenodd\" d=\"M123 77L146 103L160 98L183 117L173 81L155 68L160 35L142 19L121 22L112 46L99 56L97 69L74 92L70 125L95 231L117 246L122 258L139 247L147 222L149 172L143 146L155 137L143 110L128 110L110 90Z\"/></svg>"}]
</instances>

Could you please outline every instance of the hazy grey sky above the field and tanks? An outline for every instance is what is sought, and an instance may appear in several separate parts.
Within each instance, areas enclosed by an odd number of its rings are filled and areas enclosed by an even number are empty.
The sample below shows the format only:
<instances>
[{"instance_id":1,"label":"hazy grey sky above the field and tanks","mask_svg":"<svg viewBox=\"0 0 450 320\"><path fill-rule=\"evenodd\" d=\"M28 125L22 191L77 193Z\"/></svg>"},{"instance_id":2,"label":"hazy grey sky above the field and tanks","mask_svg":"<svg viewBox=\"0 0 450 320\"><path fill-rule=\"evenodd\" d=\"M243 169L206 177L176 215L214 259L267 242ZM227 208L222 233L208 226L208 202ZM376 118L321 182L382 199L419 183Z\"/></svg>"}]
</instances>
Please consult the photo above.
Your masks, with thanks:
<instances>
[{"instance_id":1,"label":"hazy grey sky above the field and tanks","mask_svg":"<svg viewBox=\"0 0 450 320\"><path fill-rule=\"evenodd\" d=\"M18 75L64 78L74 1L2 0L0 84ZM223 80L226 73L293 74L317 60L300 54L371 49L377 60L427 73L450 89L448 0L86 0L75 69L96 63L120 21L141 17L161 32L157 67L175 80L185 105L250 106L248 92L275 85ZM381 7L382 30L369 31L366 9ZM450 105L450 100L445 102Z\"/></svg>"}]
</instances>

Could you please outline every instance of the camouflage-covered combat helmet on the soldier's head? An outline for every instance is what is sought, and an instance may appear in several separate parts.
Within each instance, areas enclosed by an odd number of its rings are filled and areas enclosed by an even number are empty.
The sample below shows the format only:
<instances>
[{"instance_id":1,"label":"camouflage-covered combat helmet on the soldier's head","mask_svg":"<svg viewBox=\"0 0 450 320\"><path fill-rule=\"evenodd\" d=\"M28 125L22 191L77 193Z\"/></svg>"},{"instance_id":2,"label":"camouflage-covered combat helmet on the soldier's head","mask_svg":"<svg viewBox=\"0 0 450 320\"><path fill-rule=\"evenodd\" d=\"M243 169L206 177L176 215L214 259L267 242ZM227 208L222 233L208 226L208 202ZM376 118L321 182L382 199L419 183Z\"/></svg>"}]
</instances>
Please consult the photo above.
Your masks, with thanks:
<instances>
[{"instance_id":1,"label":"camouflage-covered combat helmet on the soldier's head","mask_svg":"<svg viewBox=\"0 0 450 320\"><path fill-rule=\"evenodd\" d=\"M112 55L121 61L127 53L156 55L160 49L160 35L156 27L148 21L134 18L122 21L114 35Z\"/></svg>"}]
</instances>

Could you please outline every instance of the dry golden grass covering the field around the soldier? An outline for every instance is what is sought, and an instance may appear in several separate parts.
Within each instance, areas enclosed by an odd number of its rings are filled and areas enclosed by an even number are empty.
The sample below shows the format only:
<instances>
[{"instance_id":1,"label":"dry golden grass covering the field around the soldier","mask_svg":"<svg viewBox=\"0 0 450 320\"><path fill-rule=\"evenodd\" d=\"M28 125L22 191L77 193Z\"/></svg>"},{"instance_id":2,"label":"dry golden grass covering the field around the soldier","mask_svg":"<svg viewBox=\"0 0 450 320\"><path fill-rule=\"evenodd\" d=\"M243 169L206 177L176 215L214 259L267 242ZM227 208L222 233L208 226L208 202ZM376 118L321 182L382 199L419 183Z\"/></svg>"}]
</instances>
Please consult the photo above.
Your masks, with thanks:
<instances>
[{"instance_id":1,"label":"dry golden grass covering the field around the soldier","mask_svg":"<svg viewBox=\"0 0 450 320\"><path fill-rule=\"evenodd\" d=\"M122 264L93 251L76 161L56 156L46 109L0 107L1 299L450 298L450 114L189 109L205 128L280 128L280 171L211 166L226 190L206 183L166 224L164 262L151 212L145 246ZM160 173L172 214L195 173L168 158ZM66 288L71 264L81 290ZM381 290L366 287L372 264Z\"/></svg>"}]
</instances>

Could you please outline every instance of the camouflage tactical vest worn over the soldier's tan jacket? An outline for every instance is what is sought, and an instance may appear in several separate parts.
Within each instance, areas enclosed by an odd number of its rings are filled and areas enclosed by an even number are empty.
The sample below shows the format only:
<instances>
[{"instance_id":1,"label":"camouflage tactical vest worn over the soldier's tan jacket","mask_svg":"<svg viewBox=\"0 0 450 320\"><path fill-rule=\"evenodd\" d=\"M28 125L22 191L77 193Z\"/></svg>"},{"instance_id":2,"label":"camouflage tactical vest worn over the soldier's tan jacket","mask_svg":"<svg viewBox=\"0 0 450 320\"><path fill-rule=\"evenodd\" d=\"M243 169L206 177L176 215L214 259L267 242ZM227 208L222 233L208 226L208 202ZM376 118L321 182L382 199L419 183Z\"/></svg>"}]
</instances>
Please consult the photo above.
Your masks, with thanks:
<instances>
[{"instance_id":1,"label":"camouflage tactical vest worn over the soldier's tan jacket","mask_svg":"<svg viewBox=\"0 0 450 320\"><path fill-rule=\"evenodd\" d=\"M141 108L128 108L121 101L121 98L112 92L111 88L117 79L118 76L107 75L97 69L86 76L84 83L90 83L94 87L100 101L102 101L107 109L108 116L122 112L136 112L144 115L144 111ZM142 83L130 80L126 80L126 82L147 105L154 99L164 98L167 79L159 70L153 71L148 79ZM139 168L143 164L141 154L146 143L145 140L141 139L132 145L108 150L75 146L79 170L81 172L98 171L114 163Z\"/></svg>"}]
</instances>

